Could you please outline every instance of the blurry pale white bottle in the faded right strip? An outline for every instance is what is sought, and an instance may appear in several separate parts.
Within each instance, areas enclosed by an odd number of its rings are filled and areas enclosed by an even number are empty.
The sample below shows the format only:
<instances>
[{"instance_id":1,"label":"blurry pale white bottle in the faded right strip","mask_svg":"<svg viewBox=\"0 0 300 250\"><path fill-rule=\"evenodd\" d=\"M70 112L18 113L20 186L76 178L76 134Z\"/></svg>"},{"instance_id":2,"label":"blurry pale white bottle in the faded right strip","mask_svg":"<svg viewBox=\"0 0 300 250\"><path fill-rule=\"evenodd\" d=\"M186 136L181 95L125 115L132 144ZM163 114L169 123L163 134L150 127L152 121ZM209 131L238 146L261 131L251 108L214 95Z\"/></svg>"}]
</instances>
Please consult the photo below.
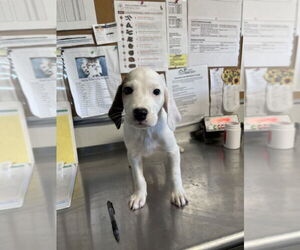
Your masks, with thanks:
<instances>
[{"instance_id":1,"label":"blurry pale white bottle in the faded right strip","mask_svg":"<svg viewBox=\"0 0 300 250\"><path fill-rule=\"evenodd\" d=\"M295 124L291 122L279 122L271 125L269 132L270 148L290 149L295 144Z\"/></svg>"}]
</instances>

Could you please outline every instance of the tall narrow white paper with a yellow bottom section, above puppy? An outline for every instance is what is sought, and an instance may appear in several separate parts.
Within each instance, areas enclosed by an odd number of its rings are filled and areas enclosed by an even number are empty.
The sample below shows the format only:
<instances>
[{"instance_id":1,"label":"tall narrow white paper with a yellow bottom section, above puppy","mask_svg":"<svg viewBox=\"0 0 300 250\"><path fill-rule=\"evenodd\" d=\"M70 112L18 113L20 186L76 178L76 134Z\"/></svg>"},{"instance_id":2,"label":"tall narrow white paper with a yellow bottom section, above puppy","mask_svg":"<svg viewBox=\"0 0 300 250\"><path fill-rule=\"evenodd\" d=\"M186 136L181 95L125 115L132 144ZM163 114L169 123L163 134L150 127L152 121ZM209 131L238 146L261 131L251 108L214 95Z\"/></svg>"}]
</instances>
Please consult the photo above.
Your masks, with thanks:
<instances>
[{"instance_id":1,"label":"tall narrow white paper with a yellow bottom section, above puppy","mask_svg":"<svg viewBox=\"0 0 300 250\"><path fill-rule=\"evenodd\" d=\"M169 68L187 67L187 1L167 1Z\"/></svg>"}]
</instances>

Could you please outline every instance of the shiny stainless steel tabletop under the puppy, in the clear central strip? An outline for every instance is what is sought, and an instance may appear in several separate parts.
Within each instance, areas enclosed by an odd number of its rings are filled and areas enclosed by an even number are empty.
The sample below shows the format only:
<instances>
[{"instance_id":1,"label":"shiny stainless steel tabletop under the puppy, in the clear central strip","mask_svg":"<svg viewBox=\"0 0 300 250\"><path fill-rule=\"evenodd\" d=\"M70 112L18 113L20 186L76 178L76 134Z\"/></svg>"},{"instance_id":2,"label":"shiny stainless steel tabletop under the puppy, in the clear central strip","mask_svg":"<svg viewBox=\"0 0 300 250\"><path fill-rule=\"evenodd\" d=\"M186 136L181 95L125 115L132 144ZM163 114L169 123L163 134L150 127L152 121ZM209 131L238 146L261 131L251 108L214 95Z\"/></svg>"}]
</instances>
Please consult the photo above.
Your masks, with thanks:
<instances>
[{"instance_id":1,"label":"shiny stainless steel tabletop under the puppy, in the clear central strip","mask_svg":"<svg viewBox=\"0 0 300 250\"><path fill-rule=\"evenodd\" d=\"M72 205L58 211L58 250L173 250L241 235L242 151L192 139L180 145L185 149L181 169L189 205L178 209L170 204L168 170L158 156L144 166L147 203L135 212L127 205L133 187L123 143L80 149ZM112 234L108 200L116 211L119 243ZM232 238L224 246L229 249L242 241Z\"/></svg>"}]
</instances>

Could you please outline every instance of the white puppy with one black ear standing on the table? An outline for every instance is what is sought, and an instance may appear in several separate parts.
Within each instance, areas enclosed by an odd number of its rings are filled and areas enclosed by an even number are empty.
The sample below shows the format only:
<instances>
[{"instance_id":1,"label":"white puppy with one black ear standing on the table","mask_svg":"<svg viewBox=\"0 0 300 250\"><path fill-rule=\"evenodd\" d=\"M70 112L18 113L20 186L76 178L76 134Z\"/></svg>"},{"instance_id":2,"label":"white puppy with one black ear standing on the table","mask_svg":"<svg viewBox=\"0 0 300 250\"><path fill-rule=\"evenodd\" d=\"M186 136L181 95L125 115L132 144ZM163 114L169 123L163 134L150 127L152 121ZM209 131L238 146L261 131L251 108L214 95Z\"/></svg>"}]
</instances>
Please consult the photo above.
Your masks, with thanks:
<instances>
[{"instance_id":1,"label":"white puppy with one black ear standing on the table","mask_svg":"<svg viewBox=\"0 0 300 250\"><path fill-rule=\"evenodd\" d=\"M173 133L181 117L159 74L149 68L131 71L119 86L109 111L118 129L123 109L124 141L134 181L130 208L135 210L145 205L147 185L143 157L157 150L166 152L168 157L172 175L171 202L178 207L187 205L181 180L180 152Z\"/></svg>"}]
</instances>

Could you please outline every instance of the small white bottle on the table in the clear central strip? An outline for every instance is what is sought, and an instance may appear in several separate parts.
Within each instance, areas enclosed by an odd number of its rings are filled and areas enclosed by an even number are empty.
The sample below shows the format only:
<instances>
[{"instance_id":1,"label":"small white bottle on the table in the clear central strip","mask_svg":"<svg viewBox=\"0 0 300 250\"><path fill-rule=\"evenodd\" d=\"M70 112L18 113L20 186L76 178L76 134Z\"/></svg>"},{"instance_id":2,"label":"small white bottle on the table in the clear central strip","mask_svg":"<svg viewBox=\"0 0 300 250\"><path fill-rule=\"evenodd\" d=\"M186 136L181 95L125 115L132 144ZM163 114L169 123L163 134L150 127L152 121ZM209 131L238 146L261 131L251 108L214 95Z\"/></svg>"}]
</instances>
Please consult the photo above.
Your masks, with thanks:
<instances>
[{"instance_id":1,"label":"small white bottle on the table in the clear central strip","mask_svg":"<svg viewBox=\"0 0 300 250\"><path fill-rule=\"evenodd\" d=\"M241 124L230 122L225 124L224 147L228 149L238 149L241 146Z\"/></svg>"}]
</instances>

